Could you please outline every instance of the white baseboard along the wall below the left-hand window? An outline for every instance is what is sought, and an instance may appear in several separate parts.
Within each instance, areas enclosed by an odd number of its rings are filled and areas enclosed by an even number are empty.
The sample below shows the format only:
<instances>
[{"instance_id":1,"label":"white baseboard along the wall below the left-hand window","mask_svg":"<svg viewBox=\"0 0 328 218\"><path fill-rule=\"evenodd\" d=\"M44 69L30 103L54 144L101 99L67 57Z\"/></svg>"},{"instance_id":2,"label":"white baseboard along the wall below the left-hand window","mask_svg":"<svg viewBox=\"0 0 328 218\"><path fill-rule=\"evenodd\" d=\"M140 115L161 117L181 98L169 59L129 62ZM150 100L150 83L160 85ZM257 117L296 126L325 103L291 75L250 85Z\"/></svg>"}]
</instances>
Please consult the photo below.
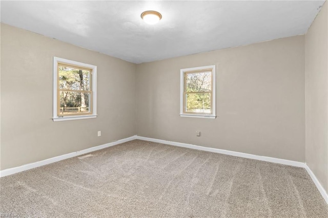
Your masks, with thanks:
<instances>
[{"instance_id":1,"label":"white baseboard along the wall below the left-hand window","mask_svg":"<svg viewBox=\"0 0 328 218\"><path fill-rule=\"evenodd\" d=\"M92 152L92 151L95 151L95 150L100 150L100 149L103 149L103 148L106 148L106 147L111 147L111 146L114 146L114 145L117 145L117 144L132 141L132 140L135 140L136 137L137 136L131 136L129 138L120 139L120 140L110 142L110 143L107 143L107 144L104 144L104 145L99 145L99 146L87 148L87 149L84 149L84 150L75 151L75 152L72 152L72 153L69 153L69 154L66 154L66 155L61 155L61 156L57 156L57 157L54 157L54 158L49 158L49 159L46 159L46 160L43 160L43 161L38 161L38 162L34 162L34 163L25 164L23 166L17 166L17 167L13 167L13 168L9 168L9 169L4 169L4 170L0 171L0 177L9 176L9 175L12 175L12 174L17 173L17 172L22 172L22 171L25 171L25 170L28 170L28 169L33 169L33 168L36 168L36 167L39 167L39 166L44 166L44 165L51 164L51 163L54 163L54 162L57 162L57 161L61 161L61 160L65 160L65 159L68 159L68 158L73 158L73 157L76 157L76 156L80 156L80 155L83 155L83 154L86 154L86 153L89 153L89 152Z\"/></svg>"}]
</instances>

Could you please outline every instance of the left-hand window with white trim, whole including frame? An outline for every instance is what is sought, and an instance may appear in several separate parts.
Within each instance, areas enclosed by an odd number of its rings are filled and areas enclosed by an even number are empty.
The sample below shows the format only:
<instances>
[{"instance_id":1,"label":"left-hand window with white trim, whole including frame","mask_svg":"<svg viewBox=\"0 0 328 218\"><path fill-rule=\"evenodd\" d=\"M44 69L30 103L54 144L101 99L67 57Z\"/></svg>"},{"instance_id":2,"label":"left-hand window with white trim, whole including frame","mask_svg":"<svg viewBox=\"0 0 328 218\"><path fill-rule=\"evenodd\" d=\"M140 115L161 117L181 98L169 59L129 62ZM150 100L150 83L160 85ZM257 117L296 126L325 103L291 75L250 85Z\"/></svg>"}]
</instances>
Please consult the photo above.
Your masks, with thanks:
<instances>
[{"instance_id":1,"label":"left-hand window with white trim, whole including frame","mask_svg":"<svg viewBox=\"0 0 328 218\"><path fill-rule=\"evenodd\" d=\"M53 58L53 121L97 117L97 67Z\"/></svg>"}]
</instances>

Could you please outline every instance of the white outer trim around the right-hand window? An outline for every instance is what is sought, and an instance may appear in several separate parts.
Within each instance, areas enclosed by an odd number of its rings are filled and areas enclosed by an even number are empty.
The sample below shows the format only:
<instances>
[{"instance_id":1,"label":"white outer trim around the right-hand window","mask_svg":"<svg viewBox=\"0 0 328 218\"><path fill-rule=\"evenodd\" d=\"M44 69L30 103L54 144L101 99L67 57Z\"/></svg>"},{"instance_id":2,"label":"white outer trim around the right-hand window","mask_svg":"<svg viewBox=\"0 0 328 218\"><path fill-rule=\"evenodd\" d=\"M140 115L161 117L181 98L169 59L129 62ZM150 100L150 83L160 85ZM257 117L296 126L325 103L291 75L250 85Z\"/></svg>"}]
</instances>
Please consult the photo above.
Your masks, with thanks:
<instances>
[{"instance_id":1,"label":"white outer trim around the right-hand window","mask_svg":"<svg viewBox=\"0 0 328 218\"><path fill-rule=\"evenodd\" d=\"M184 82L185 82L185 72L188 71L198 71L198 70L204 70L204 69L212 69L212 114L206 115L206 114L187 114L183 113L183 88L184 88ZM180 117L194 117L194 118L210 118L210 119L215 119L216 115L216 98L215 98L215 83L216 83L216 77L215 77L215 72L216 72L216 66L215 65L210 65L210 66L203 66L203 67L196 67L196 68L186 68L186 69L181 69L180 70Z\"/></svg>"}]
</instances>

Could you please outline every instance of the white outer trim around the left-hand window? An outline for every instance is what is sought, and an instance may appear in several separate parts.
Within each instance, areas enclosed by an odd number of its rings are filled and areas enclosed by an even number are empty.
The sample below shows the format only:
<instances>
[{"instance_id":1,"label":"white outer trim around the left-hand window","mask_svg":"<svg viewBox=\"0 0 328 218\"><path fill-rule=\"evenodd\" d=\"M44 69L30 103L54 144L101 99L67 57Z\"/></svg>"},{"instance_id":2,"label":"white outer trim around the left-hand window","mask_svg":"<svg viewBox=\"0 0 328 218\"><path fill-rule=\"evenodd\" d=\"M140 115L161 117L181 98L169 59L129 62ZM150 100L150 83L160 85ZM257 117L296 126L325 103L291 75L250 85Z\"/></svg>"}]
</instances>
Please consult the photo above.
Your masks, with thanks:
<instances>
[{"instance_id":1,"label":"white outer trim around the left-hand window","mask_svg":"<svg viewBox=\"0 0 328 218\"><path fill-rule=\"evenodd\" d=\"M64 116L60 117L57 115L57 66L58 62L71 64L78 67L92 69L92 114L78 115L78 116ZM59 57L53 57L53 121L64 121L64 120L80 120L96 118L97 115L97 66L81 63L74 60L68 60Z\"/></svg>"}]
</instances>

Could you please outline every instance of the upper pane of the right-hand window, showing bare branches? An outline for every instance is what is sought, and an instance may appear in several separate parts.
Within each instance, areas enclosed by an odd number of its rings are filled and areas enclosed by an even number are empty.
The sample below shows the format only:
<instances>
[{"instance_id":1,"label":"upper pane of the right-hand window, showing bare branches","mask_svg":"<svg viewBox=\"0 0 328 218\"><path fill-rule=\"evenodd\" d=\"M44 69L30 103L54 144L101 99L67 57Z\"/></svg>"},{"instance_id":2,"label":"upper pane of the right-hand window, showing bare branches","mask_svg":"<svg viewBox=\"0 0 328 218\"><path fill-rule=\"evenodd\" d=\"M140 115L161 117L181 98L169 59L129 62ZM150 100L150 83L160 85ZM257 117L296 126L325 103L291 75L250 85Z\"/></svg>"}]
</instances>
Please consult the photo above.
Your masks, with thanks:
<instances>
[{"instance_id":1,"label":"upper pane of the right-hand window, showing bare branches","mask_svg":"<svg viewBox=\"0 0 328 218\"><path fill-rule=\"evenodd\" d=\"M210 92L212 86L212 72L187 73L186 92Z\"/></svg>"}]
</instances>

